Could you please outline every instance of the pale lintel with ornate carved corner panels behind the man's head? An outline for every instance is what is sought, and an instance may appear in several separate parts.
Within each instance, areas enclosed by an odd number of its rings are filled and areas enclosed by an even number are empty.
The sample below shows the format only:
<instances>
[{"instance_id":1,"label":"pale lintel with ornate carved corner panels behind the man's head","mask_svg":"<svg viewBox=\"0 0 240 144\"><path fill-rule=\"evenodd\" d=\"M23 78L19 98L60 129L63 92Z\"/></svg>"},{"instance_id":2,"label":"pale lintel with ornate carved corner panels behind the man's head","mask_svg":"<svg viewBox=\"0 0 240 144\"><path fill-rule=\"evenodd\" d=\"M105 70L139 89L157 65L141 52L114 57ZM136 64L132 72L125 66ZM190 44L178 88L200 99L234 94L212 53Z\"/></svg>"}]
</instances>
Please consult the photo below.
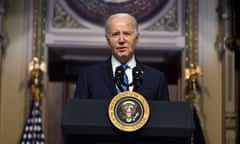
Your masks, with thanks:
<instances>
[{"instance_id":1,"label":"pale lintel with ornate carved corner panels behind the man's head","mask_svg":"<svg viewBox=\"0 0 240 144\"><path fill-rule=\"evenodd\" d=\"M73 0L72 2L76 2ZM79 0L78 0L79 1ZM139 24L140 49L182 49L185 46L183 33L183 0L162 0L164 7ZM48 46L105 48L104 27L80 17L68 5L68 0L49 0L46 43ZM80 1L79 1L80 2ZM102 1L81 1L84 4ZM113 2L113 1L111 1ZM117 1L118 4L124 1ZM135 0L135 2L148 2ZM106 1L110 3L110 1ZM114 1L116 4L116 1ZM125 2L126 3L126 2Z\"/></svg>"}]
</instances>

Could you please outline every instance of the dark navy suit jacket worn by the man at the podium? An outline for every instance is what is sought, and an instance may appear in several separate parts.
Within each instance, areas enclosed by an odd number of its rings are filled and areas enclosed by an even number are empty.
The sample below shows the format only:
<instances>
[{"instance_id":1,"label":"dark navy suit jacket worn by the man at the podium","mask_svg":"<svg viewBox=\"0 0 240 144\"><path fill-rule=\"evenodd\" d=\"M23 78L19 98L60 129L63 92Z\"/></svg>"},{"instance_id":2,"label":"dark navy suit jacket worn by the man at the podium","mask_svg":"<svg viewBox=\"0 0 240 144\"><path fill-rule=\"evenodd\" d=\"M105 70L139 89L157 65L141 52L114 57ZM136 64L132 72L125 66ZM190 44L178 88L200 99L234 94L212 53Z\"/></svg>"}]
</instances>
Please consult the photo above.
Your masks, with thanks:
<instances>
[{"instance_id":1,"label":"dark navy suit jacket worn by the man at the podium","mask_svg":"<svg viewBox=\"0 0 240 144\"><path fill-rule=\"evenodd\" d=\"M136 92L147 100L169 100L168 83L161 71L153 69L137 61L141 67L143 82ZM80 99L112 99L117 95L112 71L111 58L104 62L89 65L80 69L74 98Z\"/></svg>"}]
</instances>

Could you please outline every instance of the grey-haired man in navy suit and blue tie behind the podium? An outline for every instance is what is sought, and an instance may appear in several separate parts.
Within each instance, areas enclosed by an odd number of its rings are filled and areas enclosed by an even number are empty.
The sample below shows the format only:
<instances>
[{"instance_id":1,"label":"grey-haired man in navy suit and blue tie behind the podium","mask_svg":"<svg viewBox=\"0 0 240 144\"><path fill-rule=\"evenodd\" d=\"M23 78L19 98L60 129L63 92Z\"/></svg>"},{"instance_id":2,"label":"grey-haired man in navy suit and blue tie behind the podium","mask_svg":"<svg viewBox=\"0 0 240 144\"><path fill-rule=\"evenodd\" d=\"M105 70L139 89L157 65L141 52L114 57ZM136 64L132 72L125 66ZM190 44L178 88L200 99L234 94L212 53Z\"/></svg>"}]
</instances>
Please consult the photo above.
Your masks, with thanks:
<instances>
[{"instance_id":1,"label":"grey-haired man in navy suit and blue tie behind the podium","mask_svg":"<svg viewBox=\"0 0 240 144\"><path fill-rule=\"evenodd\" d=\"M139 67L142 82L138 88L128 85L130 91L136 91L147 100L169 100L168 84L161 71L140 63L134 54L139 43L139 31L136 19L127 13L110 16L105 25L105 37L112 55L104 62L80 69L74 98L112 99L121 90L116 86L115 71L121 64L127 64L128 84L133 82L132 71Z\"/></svg>"}]
</instances>

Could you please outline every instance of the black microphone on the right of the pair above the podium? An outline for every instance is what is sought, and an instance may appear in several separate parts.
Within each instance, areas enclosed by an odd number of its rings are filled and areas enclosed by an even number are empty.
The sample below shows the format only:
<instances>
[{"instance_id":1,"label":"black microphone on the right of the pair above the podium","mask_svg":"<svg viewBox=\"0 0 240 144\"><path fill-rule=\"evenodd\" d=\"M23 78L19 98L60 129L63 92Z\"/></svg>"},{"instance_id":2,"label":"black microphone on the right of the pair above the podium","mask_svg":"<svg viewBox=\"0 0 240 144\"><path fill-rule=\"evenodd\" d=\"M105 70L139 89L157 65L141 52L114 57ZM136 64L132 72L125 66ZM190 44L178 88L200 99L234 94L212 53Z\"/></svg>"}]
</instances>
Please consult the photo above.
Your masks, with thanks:
<instances>
[{"instance_id":1,"label":"black microphone on the right of the pair above the podium","mask_svg":"<svg viewBox=\"0 0 240 144\"><path fill-rule=\"evenodd\" d=\"M132 71L134 91L136 91L143 82L143 70L141 67L134 67Z\"/></svg>"}]
</instances>

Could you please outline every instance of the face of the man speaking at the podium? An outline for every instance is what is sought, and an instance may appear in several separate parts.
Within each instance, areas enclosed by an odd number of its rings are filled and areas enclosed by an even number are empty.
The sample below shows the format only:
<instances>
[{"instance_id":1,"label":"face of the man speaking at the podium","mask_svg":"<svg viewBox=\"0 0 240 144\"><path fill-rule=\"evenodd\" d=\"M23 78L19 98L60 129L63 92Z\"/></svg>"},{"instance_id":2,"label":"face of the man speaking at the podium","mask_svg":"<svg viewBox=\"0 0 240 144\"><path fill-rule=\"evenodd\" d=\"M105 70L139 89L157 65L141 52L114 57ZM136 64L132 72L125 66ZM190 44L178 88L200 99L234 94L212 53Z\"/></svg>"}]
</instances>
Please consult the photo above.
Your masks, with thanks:
<instances>
[{"instance_id":1,"label":"face of the man speaking at the podium","mask_svg":"<svg viewBox=\"0 0 240 144\"><path fill-rule=\"evenodd\" d=\"M134 54L139 40L133 20L130 17L116 17L109 21L107 42L113 55L122 63L128 62Z\"/></svg>"}]
</instances>

